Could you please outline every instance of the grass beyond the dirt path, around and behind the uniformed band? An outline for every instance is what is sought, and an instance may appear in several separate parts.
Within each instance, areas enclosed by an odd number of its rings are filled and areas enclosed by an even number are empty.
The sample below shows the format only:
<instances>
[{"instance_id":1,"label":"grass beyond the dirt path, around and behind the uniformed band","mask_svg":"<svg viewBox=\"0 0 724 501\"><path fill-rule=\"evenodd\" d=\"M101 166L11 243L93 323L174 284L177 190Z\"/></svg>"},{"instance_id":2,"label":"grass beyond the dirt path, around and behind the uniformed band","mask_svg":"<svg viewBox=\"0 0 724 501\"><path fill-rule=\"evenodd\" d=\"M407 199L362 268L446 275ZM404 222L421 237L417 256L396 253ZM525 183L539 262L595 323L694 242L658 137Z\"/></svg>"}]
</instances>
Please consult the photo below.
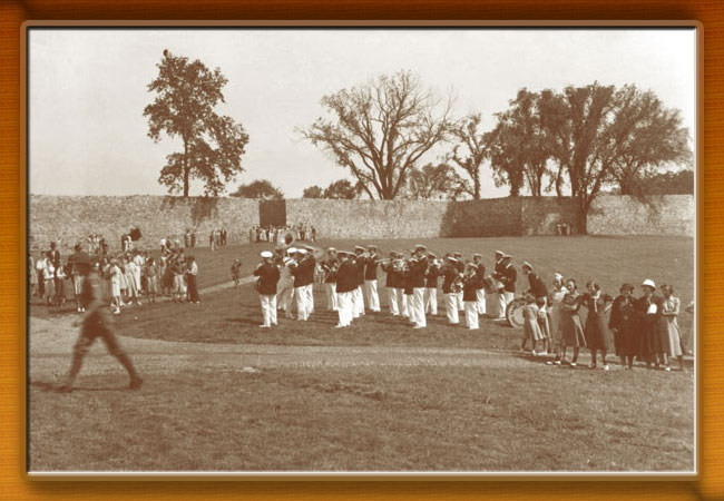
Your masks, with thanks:
<instances>
[{"instance_id":1,"label":"grass beyond the dirt path, around and behind the uniformed band","mask_svg":"<svg viewBox=\"0 0 724 501\"><path fill-rule=\"evenodd\" d=\"M325 243L327 244L327 243ZM332 243L337 248L351 242ZM693 243L686 238L496 238L496 239L430 239L425 244L439 252L460 249L471 255L481 249L491 256L496 246L531 261L547 282L557 271L580 282L589 277L599 281L605 291L615 295L623 282L639 284L644 277L657 283L674 284L687 304L693 297ZM382 248L409 248L412 240L379 243ZM511 250L517 249L517 250ZM536 258L534 256L541 256ZM642 265L645 263L645 265ZM384 274L380 273L384 278ZM383 282L382 282L383 283ZM522 275L518 291L527 288ZM449 326L444 318L443 297L439 297L439 315L429 317L429 328L412 331L401 318L387 314L387 291L380 287L383 313L368 314L351 328L333 328L337 316L326 312L324 291L315 289L315 313L306 323L280 316L280 326L260 331L261 310L253 287L221 291L205 295L202 305L159 304L153 308L131 308L118 320L119 332L131 337L208 343L254 343L292 345L400 344L428 346L470 346L509 350L520 342L520 333L506 325L482 321L481 330L469 332L463 325ZM199 314L199 311L204 314ZM585 311L583 311L585 317ZM691 333L693 316L679 317L685 336ZM689 340L686 340L687 342Z\"/></svg>"}]
</instances>

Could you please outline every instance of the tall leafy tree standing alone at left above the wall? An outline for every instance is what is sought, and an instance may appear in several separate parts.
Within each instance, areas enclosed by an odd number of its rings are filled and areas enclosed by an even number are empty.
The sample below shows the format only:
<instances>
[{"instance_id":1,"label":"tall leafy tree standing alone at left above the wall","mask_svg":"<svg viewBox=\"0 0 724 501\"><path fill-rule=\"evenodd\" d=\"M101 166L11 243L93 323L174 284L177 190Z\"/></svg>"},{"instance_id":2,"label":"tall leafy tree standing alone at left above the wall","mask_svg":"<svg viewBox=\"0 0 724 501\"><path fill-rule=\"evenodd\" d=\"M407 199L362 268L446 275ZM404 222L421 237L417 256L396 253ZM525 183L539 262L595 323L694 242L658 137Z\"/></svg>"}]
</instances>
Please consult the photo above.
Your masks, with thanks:
<instances>
[{"instance_id":1,"label":"tall leafy tree standing alone at left above the wall","mask_svg":"<svg viewBox=\"0 0 724 501\"><path fill-rule=\"evenodd\" d=\"M199 60L174 56L164 50L158 76L148 85L154 101L144 109L148 136L160 140L162 132L180 138L183 151L166 157L158 181L169 193L183 189L188 196L189 181L200 179L206 195L218 195L225 183L244 169L241 157L248 135L231 117L214 108L224 102L222 88L227 80L218 68L209 70Z\"/></svg>"}]
</instances>

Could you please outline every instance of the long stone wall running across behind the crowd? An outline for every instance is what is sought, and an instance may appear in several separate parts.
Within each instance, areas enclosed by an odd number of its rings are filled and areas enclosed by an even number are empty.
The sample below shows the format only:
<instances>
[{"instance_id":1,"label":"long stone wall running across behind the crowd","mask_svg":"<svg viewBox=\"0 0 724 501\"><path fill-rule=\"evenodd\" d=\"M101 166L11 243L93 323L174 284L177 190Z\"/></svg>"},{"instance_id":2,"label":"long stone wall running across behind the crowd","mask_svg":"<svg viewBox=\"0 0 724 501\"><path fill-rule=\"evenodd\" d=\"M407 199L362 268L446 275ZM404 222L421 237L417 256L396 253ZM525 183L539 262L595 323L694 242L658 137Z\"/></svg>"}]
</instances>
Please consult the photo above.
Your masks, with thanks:
<instances>
[{"instance_id":1,"label":"long stone wall running across behind the crowd","mask_svg":"<svg viewBox=\"0 0 724 501\"><path fill-rule=\"evenodd\" d=\"M31 248L58 240L71 247L90 233L119 247L120 235L138 226L144 246L196 230L199 245L222 226L229 243L247 240L254 225L307 223L321 238L491 237L555 235L558 224L580 233L575 200L506 197L483 200L256 200L232 197L31 195ZM599 196L587 219L593 235L694 235L695 203L689 195L657 197L650 204L626 196Z\"/></svg>"}]
</instances>

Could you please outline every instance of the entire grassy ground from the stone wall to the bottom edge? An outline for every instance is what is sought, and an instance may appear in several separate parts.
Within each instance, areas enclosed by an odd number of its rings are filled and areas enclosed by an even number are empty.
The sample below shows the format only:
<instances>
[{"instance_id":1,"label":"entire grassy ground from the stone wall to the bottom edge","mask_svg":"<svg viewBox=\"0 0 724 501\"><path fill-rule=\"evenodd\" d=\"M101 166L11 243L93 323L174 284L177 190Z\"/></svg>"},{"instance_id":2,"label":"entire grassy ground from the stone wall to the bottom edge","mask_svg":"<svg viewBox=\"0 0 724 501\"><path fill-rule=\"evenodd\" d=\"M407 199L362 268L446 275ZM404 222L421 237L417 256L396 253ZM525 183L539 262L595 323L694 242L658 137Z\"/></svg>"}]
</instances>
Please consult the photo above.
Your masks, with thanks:
<instances>
[{"instance_id":1,"label":"entire grassy ground from the stone wall to the bottom edge","mask_svg":"<svg viewBox=\"0 0 724 501\"><path fill-rule=\"evenodd\" d=\"M375 243L387 252L405 250L417 242ZM422 243L438 253L481 252L487 264L501 248L513 254L517 266L530 261L546 282L560 272L580 282L598 279L615 294L623 282L638 285L653 278L659 285L673 284L683 304L693 298L691 238ZM353 244L317 245L350 248ZM202 286L226 282L236 256L251 271L264 248L268 246L226 247L213 255L197 250ZM525 286L521 277L518 288ZM384 304L383 288L381 296ZM203 294L199 305L164 302L125 310L117 317L117 330L127 336L146 377L139 392L120 391L123 370L102 350L81 373L80 389L69 395L45 391L67 370L68 354L31 358L36 374L29 399L32 470L693 468L691 370L665 373L638 366L628 372L614 366L606 373L551 367L540 358L517 354L519 331L487 320L477 332L448 326L442 308L422 331L390 317L384 307L349 330L334 330L336 315L324 311L323 291L315 298L316 312L309 322L281 316L273 330L257 328L261 312L250 285ZM57 317L59 325L69 324L75 315L69 316L68 310L72 312L72 306L63 311L32 305L31 332L32 317ZM691 322L691 315L681 315L686 334ZM235 353L245 345L291 351L296 363L262 362L245 372L248 360ZM183 346L211 352L192 356ZM329 366L306 366L304 350L325 346L340 350L340 355L330 354ZM335 365L335 356L346 360L343 355L356 346L387 350L392 362L394 350L458 348L474 353L480 363L444 365L440 354L431 352L424 362L410 366L378 364L365 355L355 355L359 365ZM587 355L581 362L587 362Z\"/></svg>"}]
</instances>

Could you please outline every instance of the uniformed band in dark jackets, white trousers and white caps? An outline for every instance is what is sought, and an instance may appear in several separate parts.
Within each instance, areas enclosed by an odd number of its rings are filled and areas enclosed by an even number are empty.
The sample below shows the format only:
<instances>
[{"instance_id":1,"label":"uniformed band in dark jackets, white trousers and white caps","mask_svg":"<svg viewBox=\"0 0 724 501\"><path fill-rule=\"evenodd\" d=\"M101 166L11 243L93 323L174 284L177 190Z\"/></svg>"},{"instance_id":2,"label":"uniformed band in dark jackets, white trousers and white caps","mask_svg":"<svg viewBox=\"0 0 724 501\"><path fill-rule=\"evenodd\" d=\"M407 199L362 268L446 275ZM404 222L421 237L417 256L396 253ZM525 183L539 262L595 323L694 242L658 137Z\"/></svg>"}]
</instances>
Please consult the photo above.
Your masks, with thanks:
<instances>
[{"instance_id":1,"label":"uniformed band in dark jackets, white trousers and white caps","mask_svg":"<svg viewBox=\"0 0 724 501\"><path fill-rule=\"evenodd\" d=\"M381 312L379 267L385 274L390 314L404 317L412 328L425 328L427 315L438 315L440 278L448 323L459 324L460 312L464 312L468 328L479 328L479 315L505 318L515 295L516 268L511 256L501 250L496 252L492 274L486 275L481 254L466 261L461 253L447 253L439 259L422 244L415 245L409 257L391 250L388 258L380 257L375 245L358 245L350 252L293 244L288 240L274 252L263 252L254 272L264 318L261 327L276 325L277 308L293 318L295 306L296 320L307 321L314 312L315 273L325 291L326 310L339 314L339 328L350 326L366 310Z\"/></svg>"}]
</instances>

